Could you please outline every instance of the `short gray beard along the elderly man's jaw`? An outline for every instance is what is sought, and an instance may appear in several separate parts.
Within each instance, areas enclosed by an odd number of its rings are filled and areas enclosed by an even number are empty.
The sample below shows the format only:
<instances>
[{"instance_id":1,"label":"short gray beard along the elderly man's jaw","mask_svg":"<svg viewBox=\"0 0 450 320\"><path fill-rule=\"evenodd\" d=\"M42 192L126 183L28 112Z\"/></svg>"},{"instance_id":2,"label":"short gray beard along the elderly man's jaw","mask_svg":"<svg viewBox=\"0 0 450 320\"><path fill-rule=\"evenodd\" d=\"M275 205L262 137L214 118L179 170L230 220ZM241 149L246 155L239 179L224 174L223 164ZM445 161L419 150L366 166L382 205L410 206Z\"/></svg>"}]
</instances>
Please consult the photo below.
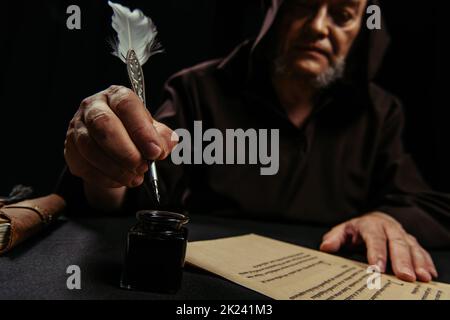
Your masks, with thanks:
<instances>
[{"instance_id":1,"label":"short gray beard along the elderly man's jaw","mask_svg":"<svg viewBox=\"0 0 450 320\"><path fill-rule=\"evenodd\" d=\"M293 72L289 70L284 57L278 57L274 63L275 73L279 75L291 75ZM311 79L312 85L317 89L325 89L335 81L341 79L345 72L345 59L339 59L334 65Z\"/></svg>"}]
</instances>

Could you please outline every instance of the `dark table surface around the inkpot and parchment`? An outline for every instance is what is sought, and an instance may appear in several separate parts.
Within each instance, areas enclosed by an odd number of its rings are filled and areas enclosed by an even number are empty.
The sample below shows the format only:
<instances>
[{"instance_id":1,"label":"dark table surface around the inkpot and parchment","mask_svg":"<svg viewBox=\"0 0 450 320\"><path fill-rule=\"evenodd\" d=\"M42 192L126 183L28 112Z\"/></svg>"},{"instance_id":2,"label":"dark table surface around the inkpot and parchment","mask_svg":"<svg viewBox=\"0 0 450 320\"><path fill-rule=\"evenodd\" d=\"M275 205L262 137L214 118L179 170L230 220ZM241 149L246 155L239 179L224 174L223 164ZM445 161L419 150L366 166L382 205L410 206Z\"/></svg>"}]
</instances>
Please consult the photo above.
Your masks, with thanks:
<instances>
[{"instance_id":1,"label":"dark table surface around the inkpot and parchment","mask_svg":"<svg viewBox=\"0 0 450 320\"><path fill-rule=\"evenodd\" d=\"M267 297L215 275L186 266L175 295L119 288L126 234L134 217L69 218L0 258L0 299L264 300ZM317 249L320 227L194 216L189 240L256 233ZM440 278L450 283L450 250L431 251ZM361 260L363 255L351 256ZM67 267L81 269L81 290L68 290Z\"/></svg>"}]
</instances>

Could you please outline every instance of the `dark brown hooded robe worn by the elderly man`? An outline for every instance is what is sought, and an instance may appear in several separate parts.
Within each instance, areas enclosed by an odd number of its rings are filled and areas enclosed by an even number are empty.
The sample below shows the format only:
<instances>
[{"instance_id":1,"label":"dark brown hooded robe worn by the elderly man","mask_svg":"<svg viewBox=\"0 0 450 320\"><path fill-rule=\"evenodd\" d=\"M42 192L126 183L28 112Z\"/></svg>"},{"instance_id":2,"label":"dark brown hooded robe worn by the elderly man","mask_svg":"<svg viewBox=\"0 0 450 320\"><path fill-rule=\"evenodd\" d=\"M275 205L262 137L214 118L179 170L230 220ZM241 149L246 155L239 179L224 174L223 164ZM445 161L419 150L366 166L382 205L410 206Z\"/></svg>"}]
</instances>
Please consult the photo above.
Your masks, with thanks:
<instances>
[{"instance_id":1,"label":"dark brown hooded robe worn by the elderly man","mask_svg":"<svg viewBox=\"0 0 450 320\"><path fill-rule=\"evenodd\" d=\"M169 158L158 162L165 207L330 227L382 211L424 245L449 246L450 195L434 192L423 181L403 147L401 104L372 81L388 43L385 28L361 32L345 77L320 94L313 114L298 129L270 84L264 54L282 2L272 1L256 41L246 41L225 59L174 75L155 115L172 129L191 132L194 121L202 121L203 130L222 132L279 129L278 174L262 176L255 165L175 166ZM80 188L75 180L66 174L62 192L73 195L75 185ZM155 206L143 187L128 199L128 210Z\"/></svg>"}]
</instances>

